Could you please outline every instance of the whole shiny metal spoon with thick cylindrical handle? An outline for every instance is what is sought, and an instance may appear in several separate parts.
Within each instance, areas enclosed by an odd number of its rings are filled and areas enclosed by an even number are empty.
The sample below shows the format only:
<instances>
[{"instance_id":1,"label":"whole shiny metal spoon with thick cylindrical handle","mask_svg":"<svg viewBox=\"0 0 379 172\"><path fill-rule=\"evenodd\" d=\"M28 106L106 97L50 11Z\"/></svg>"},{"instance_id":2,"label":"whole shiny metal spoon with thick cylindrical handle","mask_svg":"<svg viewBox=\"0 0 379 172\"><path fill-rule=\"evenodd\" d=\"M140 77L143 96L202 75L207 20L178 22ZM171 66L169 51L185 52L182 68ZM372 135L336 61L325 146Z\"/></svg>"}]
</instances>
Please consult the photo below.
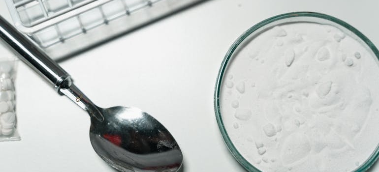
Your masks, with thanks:
<instances>
[{"instance_id":1,"label":"whole shiny metal spoon with thick cylindrical handle","mask_svg":"<svg viewBox=\"0 0 379 172\"><path fill-rule=\"evenodd\" d=\"M0 37L20 59L57 92L91 117L90 140L95 152L122 172L176 172L182 152L167 129L137 108L99 108L73 83L70 75L0 16Z\"/></svg>"}]
</instances>

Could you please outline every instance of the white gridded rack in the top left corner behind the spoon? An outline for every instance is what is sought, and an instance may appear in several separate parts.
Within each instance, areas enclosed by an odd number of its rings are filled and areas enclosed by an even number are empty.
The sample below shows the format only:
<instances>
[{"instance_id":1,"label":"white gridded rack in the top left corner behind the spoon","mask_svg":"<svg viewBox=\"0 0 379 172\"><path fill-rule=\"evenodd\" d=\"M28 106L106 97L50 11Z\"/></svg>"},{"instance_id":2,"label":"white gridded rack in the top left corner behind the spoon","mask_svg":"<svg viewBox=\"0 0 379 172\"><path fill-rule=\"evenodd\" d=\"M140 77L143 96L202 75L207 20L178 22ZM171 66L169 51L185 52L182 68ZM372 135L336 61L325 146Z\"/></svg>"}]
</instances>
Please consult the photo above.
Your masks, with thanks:
<instances>
[{"instance_id":1,"label":"white gridded rack in the top left corner behind the spoon","mask_svg":"<svg viewBox=\"0 0 379 172\"><path fill-rule=\"evenodd\" d=\"M204 0L6 0L17 29L58 59Z\"/></svg>"}]
</instances>

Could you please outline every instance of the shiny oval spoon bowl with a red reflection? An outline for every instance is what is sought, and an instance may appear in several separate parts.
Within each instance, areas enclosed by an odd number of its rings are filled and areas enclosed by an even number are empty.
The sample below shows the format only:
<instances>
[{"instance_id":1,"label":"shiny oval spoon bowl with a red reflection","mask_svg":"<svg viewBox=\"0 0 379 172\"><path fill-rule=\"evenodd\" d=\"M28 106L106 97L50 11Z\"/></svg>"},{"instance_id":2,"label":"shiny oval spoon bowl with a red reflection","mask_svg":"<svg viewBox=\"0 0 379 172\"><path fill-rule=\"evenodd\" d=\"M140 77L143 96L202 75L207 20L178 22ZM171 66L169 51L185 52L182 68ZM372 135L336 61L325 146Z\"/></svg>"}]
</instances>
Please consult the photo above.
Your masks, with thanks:
<instances>
[{"instance_id":1,"label":"shiny oval spoon bowl with a red reflection","mask_svg":"<svg viewBox=\"0 0 379 172\"><path fill-rule=\"evenodd\" d=\"M100 109L104 120L92 117L90 140L95 152L122 172L176 172L182 152L168 130L138 108Z\"/></svg>"}]
</instances>

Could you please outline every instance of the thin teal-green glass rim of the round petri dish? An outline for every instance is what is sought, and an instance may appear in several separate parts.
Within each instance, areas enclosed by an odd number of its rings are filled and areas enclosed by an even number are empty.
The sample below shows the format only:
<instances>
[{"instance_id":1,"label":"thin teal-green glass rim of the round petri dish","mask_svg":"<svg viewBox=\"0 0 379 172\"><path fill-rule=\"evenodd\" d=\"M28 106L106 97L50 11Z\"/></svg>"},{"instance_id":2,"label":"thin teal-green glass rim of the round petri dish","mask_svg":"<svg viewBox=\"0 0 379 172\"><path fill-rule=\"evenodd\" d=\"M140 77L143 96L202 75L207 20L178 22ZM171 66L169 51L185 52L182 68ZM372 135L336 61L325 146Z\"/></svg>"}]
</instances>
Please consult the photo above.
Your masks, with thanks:
<instances>
[{"instance_id":1,"label":"thin teal-green glass rim of the round petri dish","mask_svg":"<svg viewBox=\"0 0 379 172\"><path fill-rule=\"evenodd\" d=\"M225 57L223 58L221 62L221 67L217 75L215 92L214 92L214 109L215 109L216 120L217 120L224 143L226 144L227 148L229 149L233 157L249 172L262 172L262 171L258 170L251 163L249 163L237 150L237 148L234 146L234 144L230 140L228 133L224 127L223 120L222 120L221 110L220 110L220 89L221 89L224 72L234 52L238 51L238 47L244 42L245 39L251 36L251 34L253 34L258 29L261 29L262 27L272 24L273 22L280 21L283 19L296 18L296 17L310 17L310 18L314 17L314 18L324 19L351 31L358 38L360 38L363 41L363 43L365 43L368 46L368 48L379 60L378 49L363 33L361 33L358 29L355 29L354 27L352 27L351 25L347 24L346 22L340 19L337 19L333 16L329 16L322 13L316 13L316 12L284 13L284 14L280 14L280 15L268 18L266 20L263 20L259 22L258 24L254 25L253 27L251 27L250 29L246 30L244 33L242 33L242 35L238 37L237 40L230 46L229 50L227 51ZM258 34L259 33L260 32L258 32ZM378 160L378 158L379 158L379 143L377 147L375 148L375 150L373 151L373 153L370 155L370 157L364 163L362 163L357 169L355 169L353 172L366 172Z\"/></svg>"}]
</instances>

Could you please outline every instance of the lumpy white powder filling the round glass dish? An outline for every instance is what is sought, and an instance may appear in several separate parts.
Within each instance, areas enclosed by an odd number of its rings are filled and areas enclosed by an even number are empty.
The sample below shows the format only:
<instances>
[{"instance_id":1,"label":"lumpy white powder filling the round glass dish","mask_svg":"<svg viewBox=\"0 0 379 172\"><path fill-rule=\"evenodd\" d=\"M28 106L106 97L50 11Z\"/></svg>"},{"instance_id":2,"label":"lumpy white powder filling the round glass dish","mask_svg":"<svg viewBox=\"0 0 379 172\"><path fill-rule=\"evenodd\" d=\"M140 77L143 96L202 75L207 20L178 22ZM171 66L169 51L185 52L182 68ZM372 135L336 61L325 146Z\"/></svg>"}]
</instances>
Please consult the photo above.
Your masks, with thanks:
<instances>
[{"instance_id":1,"label":"lumpy white powder filling the round glass dish","mask_svg":"<svg viewBox=\"0 0 379 172\"><path fill-rule=\"evenodd\" d=\"M225 76L226 131L263 172L351 172L379 143L378 59L340 29L268 29L236 53Z\"/></svg>"}]
</instances>

